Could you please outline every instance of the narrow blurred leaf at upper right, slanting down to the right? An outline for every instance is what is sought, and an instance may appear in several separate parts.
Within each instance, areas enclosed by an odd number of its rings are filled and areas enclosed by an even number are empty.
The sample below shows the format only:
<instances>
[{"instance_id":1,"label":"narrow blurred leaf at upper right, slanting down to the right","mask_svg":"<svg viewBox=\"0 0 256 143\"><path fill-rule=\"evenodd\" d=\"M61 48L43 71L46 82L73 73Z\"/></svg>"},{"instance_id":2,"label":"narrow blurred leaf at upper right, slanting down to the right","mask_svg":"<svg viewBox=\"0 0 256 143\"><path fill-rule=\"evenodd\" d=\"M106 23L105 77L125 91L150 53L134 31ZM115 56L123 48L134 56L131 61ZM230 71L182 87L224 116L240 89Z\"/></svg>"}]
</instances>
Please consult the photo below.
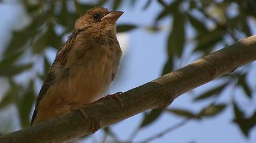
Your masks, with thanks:
<instances>
[{"instance_id":1,"label":"narrow blurred leaf at upper right, slanting down to the right","mask_svg":"<svg viewBox=\"0 0 256 143\"><path fill-rule=\"evenodd\" d=\"M188 20L190 21L190 24L197 30L199 33L205 33L207 32L207 28L204 25L204 22L201 22L194 18L193 15L190 15L190 13L187 13Z\"/></svg>"}]
</instances>

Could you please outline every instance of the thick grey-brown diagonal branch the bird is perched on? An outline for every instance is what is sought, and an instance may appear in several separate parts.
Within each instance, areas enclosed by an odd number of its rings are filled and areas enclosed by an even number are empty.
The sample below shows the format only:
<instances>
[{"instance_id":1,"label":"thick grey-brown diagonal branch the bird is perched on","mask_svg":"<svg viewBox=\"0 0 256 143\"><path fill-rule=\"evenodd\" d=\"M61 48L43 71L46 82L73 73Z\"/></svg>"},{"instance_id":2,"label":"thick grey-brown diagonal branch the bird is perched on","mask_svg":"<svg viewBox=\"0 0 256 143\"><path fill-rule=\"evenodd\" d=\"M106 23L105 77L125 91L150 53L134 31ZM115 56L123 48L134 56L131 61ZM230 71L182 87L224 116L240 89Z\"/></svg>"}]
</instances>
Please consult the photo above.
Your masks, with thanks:
<instances>
[{"instance_id":1,"label":"thick grey-brown diagonal branch the bird is perched on","mask_svg":"<svg viewBox=\"0 0 256 143\"><path fill-rule=\"evenodd\" d=\"M164 75L115 99L100 99L84 108L88 122L78 111L0 136L0 142L63 142L94 133L151 108L166 107L178 96L256 60L256 35Z\"/></svg>"}]
</instances>

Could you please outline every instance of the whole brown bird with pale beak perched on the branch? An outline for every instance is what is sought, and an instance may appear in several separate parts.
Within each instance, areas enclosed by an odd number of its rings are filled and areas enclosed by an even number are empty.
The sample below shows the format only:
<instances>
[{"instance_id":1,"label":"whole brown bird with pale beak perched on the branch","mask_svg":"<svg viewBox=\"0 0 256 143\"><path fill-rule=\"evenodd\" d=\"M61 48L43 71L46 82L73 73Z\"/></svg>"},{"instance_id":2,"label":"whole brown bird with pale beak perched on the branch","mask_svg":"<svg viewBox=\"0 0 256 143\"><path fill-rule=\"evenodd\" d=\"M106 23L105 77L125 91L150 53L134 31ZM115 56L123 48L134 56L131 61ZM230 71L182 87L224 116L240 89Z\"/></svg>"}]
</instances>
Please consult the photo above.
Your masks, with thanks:
<instances>
[{"instance_id":1,"label":"whole brown bird with pale beak perched on the branch","mask_svg":"<svg viewBox=\"0 0 256 143\"><path fill-rule=\"evenodd\" d=\"M79 110L102 97L119 67L122 52L116 21L121 15L95 7L77 19L41 87L31 125Z\"/></svg>"}]
</instances>

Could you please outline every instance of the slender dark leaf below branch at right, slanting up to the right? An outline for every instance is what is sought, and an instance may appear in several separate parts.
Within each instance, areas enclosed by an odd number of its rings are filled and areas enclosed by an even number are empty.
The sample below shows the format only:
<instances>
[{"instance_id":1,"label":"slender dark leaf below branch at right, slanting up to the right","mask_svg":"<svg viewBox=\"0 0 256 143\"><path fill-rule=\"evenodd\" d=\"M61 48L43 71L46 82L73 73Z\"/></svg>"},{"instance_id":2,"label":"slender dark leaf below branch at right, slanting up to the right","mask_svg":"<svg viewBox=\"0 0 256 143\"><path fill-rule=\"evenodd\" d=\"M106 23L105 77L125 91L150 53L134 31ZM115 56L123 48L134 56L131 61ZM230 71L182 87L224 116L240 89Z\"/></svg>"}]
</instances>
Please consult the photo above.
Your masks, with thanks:
<instances>
[{"instance_id":1,"label":"slender dark leaf below branch at right, slanting up to the right","mask_svg":"<svg viewBox=\"0 0 256 143\"><path fill-rule=\"evenodd\" d=\"M203 93L202 95L197 96L197 98L194 99L194 101L201 101L202 99L210 98L211 96L218 95L224 87L226 87L228 84L222 84L218 87L215 87L211 90L208 90L207 92Z\"/></svg>"}]
</instances>

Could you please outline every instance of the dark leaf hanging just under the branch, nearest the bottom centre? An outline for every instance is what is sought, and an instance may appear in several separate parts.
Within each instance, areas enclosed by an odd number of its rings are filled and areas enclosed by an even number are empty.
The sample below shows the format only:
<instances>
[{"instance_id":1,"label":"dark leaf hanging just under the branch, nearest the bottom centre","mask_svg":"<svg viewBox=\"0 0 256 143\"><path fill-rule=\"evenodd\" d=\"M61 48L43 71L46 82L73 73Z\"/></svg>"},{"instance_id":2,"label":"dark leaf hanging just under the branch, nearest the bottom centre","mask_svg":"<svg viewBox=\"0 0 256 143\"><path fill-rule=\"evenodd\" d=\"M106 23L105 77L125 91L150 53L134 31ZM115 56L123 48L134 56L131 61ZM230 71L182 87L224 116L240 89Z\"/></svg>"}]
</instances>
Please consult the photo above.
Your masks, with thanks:
<instances>
[{"instance_id":1,"label":"dark leaf hanging just under the branch, nearest the bottom centre","mask_svg":"<svg viewBox=\"0 0 256 143\"><path fill-rule=\"evenodd\" d=\"M159 108L151 110L150 113L144 116L144 119L141 122L140 128L145 127L151 124L152 122L154 122L161 115L162 111L163 109L159 109Z\"/></svg>"}]
</instances>

